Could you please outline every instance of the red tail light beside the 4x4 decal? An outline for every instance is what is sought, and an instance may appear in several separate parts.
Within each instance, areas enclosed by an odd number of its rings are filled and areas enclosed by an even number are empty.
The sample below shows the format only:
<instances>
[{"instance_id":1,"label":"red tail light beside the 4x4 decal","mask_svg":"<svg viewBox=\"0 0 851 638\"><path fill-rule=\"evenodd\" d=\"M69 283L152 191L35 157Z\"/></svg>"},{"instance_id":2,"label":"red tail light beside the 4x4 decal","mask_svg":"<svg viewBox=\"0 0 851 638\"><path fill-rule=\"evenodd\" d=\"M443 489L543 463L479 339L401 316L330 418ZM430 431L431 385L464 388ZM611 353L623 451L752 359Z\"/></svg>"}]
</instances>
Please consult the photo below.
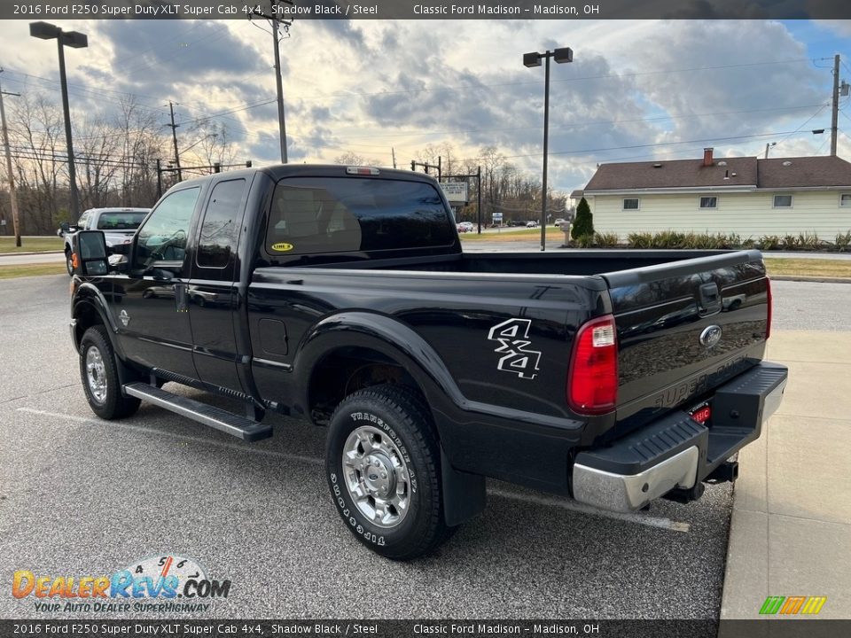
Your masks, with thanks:
<instances>
[{"instance_id":1,"label":"red tail light beside the 4x4 decal","mask_svg":"<svg viewBox=\"0 0 851 638\"><path fill-rule=\"evenodd\" d=\"M578 414L611 412L618 402L618 342L614 317L582 325L567 372L567 403Z\"/></svg>"}]
</instances>

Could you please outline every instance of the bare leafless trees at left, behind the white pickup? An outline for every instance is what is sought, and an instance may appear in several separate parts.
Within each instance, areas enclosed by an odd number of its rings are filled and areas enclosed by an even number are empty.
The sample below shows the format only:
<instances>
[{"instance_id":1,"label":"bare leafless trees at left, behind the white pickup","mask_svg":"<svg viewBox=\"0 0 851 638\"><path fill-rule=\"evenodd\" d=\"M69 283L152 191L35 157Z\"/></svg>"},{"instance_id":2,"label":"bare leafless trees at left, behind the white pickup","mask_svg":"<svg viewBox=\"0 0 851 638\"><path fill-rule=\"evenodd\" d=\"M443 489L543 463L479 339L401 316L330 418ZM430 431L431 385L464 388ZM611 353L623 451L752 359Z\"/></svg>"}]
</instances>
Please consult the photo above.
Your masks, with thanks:
<instances>
[{"instance_id":1,"label":"bare leafless trees at left, behind the white pickup","mask_svg":"<svg viewBox=\"0 0 851 638\"><path fill-rule=\"evenodd\" d=\"M21 235L51 235L61 222L75 222L69 210L67 147L62 108L42 95L6 101L12 174L17 191ZM157 200L157 159L174 158L172 138L164 132L162 113L130 97L111 116L74 113L74 167L80 212L102 206L152 206ZM184 178L210 169L193 166L228 164L235 152L226 125L199 120L183 131L178 149ZM164 168L168 167L163 166ZM0 219L12 234L8 176L2 162ZM176 172L163 173L163 191Z\"/></svg>"}]
</instances>

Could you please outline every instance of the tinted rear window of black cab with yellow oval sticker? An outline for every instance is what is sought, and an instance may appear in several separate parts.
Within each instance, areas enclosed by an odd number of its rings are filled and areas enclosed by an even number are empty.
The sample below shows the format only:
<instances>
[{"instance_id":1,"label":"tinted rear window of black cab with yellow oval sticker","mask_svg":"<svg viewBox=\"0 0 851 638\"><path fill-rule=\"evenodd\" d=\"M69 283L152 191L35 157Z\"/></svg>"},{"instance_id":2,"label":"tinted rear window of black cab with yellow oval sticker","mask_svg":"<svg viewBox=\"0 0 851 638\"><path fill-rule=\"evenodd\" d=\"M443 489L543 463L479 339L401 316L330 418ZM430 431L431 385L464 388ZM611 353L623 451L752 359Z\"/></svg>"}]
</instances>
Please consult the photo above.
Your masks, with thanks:
<instances>
[{"instance_id":1,"label":"tinted rear window of black cab with yellow oval sticker","mask_svg":"<svg viewBox=\"0 0 851 638\"><path fill-rule=\"evenodd\" d=\"M266 250L271 255L451 245L455 223L427 183L356 177L291 177L277 183Z\"/></svg>"}]
</instances>

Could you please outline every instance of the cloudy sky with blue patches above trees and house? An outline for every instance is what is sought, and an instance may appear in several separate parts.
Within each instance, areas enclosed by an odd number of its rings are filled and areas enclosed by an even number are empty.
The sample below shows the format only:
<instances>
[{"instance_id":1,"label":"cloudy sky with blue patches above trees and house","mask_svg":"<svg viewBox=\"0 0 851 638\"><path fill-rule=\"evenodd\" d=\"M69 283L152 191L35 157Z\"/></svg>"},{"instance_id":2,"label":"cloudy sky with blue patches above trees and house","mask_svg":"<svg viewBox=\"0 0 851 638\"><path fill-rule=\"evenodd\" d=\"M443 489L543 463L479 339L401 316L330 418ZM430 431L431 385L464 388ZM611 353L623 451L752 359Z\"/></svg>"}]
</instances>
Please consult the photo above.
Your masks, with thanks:
<instances>
[{"instance_id":1,"label":"cloudy sky with blue patches above trees and house","mask_svg":"<svg viewBox=\"0 0 851 638\"><path fill-rule=\"evenodd\" d=\"M66 50L74 118L132 94L168 121L226 124L238 159L279 159L269 27L263 21L56 20L89 35ZM597 162L829 152L831 67L851 82L851 21L296 20L281 44L291 161L344 152L401 166L428 144L457 158L485 146L540 175L543 67L522 54L569 46L553 65L550 183L581 188ZM56 47L0 21L4 90L59 101ZM839 155L851 159L840 101ZM814 128L825 128L814 136ZM188 127L178 129L178 133ZM168 131L168 129L164 129Z\"/></svg>"}]
</instances>

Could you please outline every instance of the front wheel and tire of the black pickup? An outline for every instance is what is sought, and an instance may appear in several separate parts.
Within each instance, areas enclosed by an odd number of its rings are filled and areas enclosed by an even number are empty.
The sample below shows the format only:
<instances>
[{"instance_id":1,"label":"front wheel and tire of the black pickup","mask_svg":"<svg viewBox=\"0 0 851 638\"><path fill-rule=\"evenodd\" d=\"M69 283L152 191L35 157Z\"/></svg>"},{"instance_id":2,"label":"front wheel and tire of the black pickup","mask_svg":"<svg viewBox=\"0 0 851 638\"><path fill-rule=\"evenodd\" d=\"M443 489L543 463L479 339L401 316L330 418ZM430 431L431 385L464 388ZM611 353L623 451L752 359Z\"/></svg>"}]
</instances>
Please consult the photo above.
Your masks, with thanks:
<instances>
[{"instance_id":1,"label":"front wheel and tire of the black pickup","mask_svg":"<svg viewBox=\"0 0 851 638\"><path fill-rule=\"evenodd\" d=\"M91 411L101 418L123 418L132 415L139 408L141 401L136 397L121 395L113 344L102 325L92 326L82 335L80 379Z\"/></svg>"}]
</instances>

